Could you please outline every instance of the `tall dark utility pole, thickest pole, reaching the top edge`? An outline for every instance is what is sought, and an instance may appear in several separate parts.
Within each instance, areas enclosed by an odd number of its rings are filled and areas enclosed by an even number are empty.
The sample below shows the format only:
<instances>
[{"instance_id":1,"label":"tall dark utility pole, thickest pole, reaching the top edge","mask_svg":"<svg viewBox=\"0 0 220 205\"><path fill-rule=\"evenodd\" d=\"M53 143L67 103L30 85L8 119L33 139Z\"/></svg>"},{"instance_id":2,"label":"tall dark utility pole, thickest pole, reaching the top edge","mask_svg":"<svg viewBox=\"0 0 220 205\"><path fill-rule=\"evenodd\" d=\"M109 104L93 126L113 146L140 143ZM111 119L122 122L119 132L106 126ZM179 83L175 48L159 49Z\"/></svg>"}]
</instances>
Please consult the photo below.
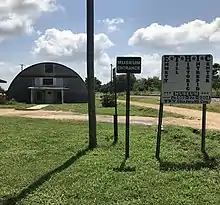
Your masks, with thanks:
<instances>
[{"instance_id":1,"label":"tall dark utility pole, thickest pole, reaching the top edge","mask_svg":"<svg viewBox=\"0 0 220 205\"><path fill-rule=\"evenodd\" d=\"M95 79L94 79L94 0L87 0L87 79L88 79L88 114L89 114L89 148L97 146Z\"/></svg>"}]
</instances>

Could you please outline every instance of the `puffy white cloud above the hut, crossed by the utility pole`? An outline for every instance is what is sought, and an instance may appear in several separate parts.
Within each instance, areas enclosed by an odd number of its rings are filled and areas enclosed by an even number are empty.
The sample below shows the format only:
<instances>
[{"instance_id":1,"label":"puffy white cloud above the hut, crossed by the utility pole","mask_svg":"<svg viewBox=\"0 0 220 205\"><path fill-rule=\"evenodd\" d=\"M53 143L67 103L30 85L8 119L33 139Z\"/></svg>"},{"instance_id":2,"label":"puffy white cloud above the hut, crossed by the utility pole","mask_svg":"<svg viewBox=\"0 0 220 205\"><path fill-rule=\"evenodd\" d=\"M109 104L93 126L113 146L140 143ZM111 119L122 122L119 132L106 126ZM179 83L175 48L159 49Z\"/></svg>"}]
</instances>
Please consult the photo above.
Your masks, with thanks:
<instances>
[{"instance_id":1,"label":"puffy white cloud above the hut, crossed by the utility pole","mask_svg":"<svg viewBox=\"0 0 220 205\"><path fill-rule=\"evenodd\" d=\"M48 29L35 41L33 54L51 60L82 61L86 55L86 33L73 33L70 30ZM108 36L95 35L95 59L99 60L105 50L114 44Z\"/></svg>"}]
</instances>

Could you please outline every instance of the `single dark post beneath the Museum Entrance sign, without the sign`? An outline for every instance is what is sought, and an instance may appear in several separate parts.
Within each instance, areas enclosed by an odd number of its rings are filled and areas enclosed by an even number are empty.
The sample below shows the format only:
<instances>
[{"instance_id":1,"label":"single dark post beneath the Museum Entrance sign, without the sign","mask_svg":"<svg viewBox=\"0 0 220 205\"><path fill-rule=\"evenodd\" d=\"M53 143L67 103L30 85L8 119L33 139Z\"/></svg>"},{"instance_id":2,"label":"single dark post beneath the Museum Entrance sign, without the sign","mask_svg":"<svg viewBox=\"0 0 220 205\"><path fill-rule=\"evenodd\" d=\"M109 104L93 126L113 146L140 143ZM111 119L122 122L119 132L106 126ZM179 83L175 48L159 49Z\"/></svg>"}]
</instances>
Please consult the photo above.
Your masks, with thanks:
<instances>
[{"instance_id":1,"label":"single dark post beneath the Museum Entrance sign, without the sign","mask_svg":"<svg viewBox=\"0 0 220 205\"><path fill-rule=\"evenodd\" d=\"M126 127L125 127L125 159L129 158L129 131L130 131L130 73L127 73L126 92Z\"/></svg>"}]
</instances>

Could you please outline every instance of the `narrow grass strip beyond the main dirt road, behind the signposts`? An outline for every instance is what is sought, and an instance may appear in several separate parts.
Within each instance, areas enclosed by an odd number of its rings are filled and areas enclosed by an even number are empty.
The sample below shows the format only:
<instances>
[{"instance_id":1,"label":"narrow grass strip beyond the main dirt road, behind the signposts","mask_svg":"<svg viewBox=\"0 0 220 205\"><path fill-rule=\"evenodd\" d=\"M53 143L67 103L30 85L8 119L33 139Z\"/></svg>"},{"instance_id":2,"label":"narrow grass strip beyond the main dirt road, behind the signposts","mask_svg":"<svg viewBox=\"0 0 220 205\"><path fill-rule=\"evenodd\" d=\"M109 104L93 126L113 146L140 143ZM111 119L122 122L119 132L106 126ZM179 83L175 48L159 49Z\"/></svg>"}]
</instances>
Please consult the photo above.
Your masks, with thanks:
<instances>
[{"instance_id":1,"label":"narrow grass strip beyond the main dirt road, behind the signposts","mask_svg":"<svg viewBox=\"0 0 220 205\"><path fill-rule=\"evenodd\" d=\"M80 114L88 113L87 103L81 104L56 104L45 107L44 110L57 110L57 111L71 111ZM102 107L100 100L96 100L96 113L99 115L114 115L114 108ZM124 103L118 103L118 115L125 116L126 105ZM158 110L153 108L142 108L138 106L130 106L130 115L132 116L145 116L145 117L157 117ZM179 115L171 112L164 112L164 117L179 117L185 118L184 115Z\"/></svg>"}]
</instances>

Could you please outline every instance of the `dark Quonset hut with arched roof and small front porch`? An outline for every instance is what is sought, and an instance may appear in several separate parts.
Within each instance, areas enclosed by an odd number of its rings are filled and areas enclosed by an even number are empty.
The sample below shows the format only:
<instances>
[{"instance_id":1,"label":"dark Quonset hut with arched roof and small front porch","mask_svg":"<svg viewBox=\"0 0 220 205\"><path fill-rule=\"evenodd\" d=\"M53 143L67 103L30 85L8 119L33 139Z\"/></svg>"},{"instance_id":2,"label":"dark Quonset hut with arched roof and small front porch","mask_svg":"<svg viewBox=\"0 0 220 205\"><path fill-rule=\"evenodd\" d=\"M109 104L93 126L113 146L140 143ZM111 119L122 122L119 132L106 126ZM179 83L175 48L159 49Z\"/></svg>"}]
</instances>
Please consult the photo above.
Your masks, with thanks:
<instances>
[{"instance_id":1,"label":"dark Quonset hut with arched roof and small front porch","mask_svg":"<svg viewBox=\"0 0 220 205\"><path fill-rule=\"evenodd\" d=\"M88 90L72 69L44 62L22 70L11 82L8 97L32 104L86 103Z\"/></svg>"}]
</instances>

